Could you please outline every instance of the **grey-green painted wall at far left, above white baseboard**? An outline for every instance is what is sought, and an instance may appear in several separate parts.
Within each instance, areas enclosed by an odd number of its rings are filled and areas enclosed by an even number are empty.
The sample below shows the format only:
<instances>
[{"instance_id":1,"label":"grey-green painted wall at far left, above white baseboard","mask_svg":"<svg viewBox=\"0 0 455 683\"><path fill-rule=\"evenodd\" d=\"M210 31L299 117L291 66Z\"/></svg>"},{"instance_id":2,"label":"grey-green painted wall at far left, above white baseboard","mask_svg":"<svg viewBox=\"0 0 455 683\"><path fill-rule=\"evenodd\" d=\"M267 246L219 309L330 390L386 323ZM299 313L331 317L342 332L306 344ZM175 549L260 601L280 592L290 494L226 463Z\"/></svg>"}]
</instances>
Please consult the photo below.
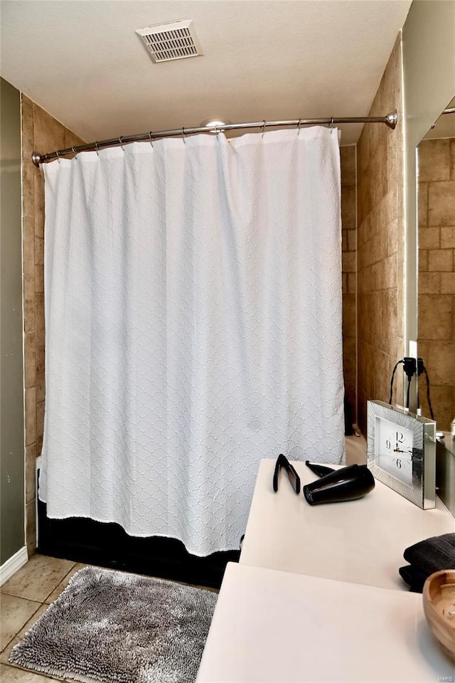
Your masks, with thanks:
<instances>
[{"instance_id":1,"label":"grey-green painted wall at far left, above white baseboard","mask_svg":"<svg viewBox=\"0 0 455 683\"><path fill-rule=\"evenodd\" d=\"M25 542L23 523L23 335L21 94L0 83L0 564Z\"/></svg>"}]
</instances>

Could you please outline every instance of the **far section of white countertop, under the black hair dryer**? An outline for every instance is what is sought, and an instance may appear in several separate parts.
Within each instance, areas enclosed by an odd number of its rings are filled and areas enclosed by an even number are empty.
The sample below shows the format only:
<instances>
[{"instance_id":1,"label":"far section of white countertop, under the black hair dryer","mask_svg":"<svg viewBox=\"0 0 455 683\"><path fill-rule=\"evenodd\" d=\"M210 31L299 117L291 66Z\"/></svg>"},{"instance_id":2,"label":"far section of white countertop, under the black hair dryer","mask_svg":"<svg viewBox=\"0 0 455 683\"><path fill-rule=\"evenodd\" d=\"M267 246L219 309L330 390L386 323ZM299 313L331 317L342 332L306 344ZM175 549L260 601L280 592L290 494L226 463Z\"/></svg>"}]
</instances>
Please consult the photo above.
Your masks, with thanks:
<instances>
[{"instance_id":1,"label":"far section of white countertop, under the black hair dryer","mask_svg":"<svg viewBox=\"0 0 455 683\"><path fill-rule=\"evenodd\" d=\"M302 486L318 477L293 462ZM261 460L240 564L381 588L405 589L398 569L403 551L418 541L455 531L455 519L437 500L422 510L376 482L362 499L309 505L282 470L274 493L275 460Z\"/></svg>"}]
</instances>

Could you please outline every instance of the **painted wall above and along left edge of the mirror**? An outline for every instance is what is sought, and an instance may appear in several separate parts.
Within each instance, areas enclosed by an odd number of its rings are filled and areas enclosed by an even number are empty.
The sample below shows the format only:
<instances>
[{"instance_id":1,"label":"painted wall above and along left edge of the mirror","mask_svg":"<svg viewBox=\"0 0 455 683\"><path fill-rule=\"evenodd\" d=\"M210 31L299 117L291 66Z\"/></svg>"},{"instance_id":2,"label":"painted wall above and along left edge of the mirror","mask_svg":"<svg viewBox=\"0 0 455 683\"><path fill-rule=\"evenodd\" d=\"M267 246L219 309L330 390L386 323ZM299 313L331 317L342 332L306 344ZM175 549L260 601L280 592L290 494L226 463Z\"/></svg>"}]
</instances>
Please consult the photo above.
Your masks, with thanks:
<instances>
[{"instance_id":1,"label":"painted wall above and along left edge of the mirror","mask_svg":"<svg viewBox=\"0 0 455 683\"><path fill-rule=\"evenodd\" d=\"M455 95L455 2L419 0L403 27L406 162L405 340L417 339L416 147ZM419 352L420 354L420 352Z\"/></svg>"}]
</instances>

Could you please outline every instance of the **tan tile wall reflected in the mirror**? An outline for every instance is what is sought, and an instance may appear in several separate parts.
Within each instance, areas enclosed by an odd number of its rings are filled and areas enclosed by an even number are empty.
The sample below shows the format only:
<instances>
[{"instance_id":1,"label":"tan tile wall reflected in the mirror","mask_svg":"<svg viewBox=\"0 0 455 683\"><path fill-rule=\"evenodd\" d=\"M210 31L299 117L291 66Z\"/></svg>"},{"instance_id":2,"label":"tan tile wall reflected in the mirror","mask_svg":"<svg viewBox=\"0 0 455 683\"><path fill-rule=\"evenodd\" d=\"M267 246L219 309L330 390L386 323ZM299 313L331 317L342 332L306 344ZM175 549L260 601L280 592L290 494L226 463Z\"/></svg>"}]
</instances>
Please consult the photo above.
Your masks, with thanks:
<instances>
[{"instance_id":1,"label":"tan tile wall reflected in the mirror","mask_svg":"<svg viewBox=\"0 0 455 683\"><path fill-rule=\"evenodd\" d=\"M419 144L418 349L438 429L455 417L455 139ZM430 416L427 383L419 382Z\"/></svg>"}]
</instances>

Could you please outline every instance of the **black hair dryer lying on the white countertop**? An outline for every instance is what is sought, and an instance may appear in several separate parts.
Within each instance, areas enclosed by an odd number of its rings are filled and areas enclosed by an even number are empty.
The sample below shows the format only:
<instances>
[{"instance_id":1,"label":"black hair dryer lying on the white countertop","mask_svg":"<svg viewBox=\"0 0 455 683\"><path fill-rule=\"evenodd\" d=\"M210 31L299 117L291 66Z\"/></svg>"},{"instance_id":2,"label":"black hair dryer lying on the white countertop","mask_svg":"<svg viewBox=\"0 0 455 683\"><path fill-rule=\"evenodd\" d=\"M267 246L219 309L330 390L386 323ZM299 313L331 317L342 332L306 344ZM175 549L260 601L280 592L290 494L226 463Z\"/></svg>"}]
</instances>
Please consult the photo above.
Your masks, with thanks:
<instances>
[{"instance_id":1,"label":"black hair dryer lying on the white countertop","mask_svg":"<svg viewBox=\"0 0 455 683\"><path fill-rule=\"evenodd\" d=\"M325 465L312 465L308 460L305 465L321 477L304 486L304 496L310 505L363 498L375 487L375 478L366 465L349 465L341 470L333 470Z\"/></svg>"}]
</instances>

